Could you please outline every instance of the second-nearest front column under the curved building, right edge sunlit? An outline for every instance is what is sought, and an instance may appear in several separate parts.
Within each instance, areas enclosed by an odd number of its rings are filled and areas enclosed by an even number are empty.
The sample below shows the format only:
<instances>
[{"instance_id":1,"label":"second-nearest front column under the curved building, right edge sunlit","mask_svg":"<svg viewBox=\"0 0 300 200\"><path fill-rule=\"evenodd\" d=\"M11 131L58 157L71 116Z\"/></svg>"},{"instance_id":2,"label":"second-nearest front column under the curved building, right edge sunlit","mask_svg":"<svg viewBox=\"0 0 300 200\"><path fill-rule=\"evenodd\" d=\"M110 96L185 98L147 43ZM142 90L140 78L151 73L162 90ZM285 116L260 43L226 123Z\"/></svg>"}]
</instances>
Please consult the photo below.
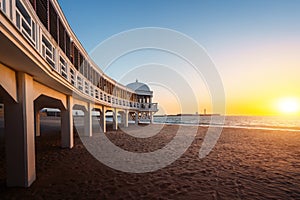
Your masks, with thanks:
<instances>
[{"instance_id":1,"label":"second-nearest front column under the curved building, right edge sunlit","mask_svg":"<svg viewBox=\"0 0 300 200\"><path fill-rule=\"evenodd\" d=\"M67 96L67 108L61 111L61 146L73 148L73 97Z\"/></svg>"}]
</instances>

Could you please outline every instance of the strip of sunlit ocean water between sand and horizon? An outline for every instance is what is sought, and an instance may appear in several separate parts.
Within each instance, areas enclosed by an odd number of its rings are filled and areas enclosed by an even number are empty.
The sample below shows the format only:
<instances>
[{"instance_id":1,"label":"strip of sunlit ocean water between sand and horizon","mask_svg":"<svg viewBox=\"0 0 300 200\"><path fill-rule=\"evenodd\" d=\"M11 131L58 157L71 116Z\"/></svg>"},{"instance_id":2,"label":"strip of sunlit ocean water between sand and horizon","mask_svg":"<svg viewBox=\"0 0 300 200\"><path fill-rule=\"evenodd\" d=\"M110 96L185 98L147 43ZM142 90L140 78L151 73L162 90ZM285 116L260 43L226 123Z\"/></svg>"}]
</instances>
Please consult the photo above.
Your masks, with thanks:
<instances>
[{"instance_id":1,"label":"strip of sunlit ocean water between sand and horizon","mask_svg":"<svg viewBox=\"0 0 300 200\"><path fill-rule=\"evenodd\" d=\"M223 119L224 123L223 123ZM300 131L300 116L154 116L155 123Z\"/></svg>"}]
</instances>

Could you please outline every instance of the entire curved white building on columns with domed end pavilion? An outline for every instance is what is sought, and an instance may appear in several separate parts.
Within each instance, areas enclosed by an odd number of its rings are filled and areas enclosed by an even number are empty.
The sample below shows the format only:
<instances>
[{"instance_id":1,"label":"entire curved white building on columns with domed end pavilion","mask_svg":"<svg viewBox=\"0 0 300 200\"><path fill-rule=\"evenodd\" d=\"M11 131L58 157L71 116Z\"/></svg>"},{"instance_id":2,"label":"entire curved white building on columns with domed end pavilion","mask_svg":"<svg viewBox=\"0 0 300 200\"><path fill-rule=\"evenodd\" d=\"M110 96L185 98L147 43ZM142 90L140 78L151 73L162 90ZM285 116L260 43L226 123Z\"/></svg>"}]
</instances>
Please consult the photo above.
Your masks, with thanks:
<instances>
[{"instance_id":1,"label":"entire curved white building on columns with domed end pavilion","mask_svg":"<svg viewBox=\"0 0 300 200\"><path fill-rule=\"evenodd\" d=\"M4 108L7 185L29 187L36 179L35 137L40 110L61 116L61 146L72 148L73 109L84 112L84 136L92 136L92 111L151 122L157 104L145 84L128 87L108 77L89 57L56 0L0 0L0 103ZM140 84L140 83L136 83Z\"/></svg>"}]
</instances>

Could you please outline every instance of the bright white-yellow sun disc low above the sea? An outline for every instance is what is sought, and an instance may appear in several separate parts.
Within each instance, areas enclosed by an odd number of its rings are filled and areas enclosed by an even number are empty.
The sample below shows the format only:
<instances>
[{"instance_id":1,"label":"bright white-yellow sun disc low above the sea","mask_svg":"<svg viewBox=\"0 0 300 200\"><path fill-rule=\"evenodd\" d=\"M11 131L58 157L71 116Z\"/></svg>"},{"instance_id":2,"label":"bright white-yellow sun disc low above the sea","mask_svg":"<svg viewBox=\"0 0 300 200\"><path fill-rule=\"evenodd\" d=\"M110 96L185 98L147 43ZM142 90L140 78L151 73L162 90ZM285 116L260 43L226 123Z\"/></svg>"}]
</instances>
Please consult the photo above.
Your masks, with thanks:
<instances>
[{"instance_id":1,"label":"bright white-yellow sun disc low above the sea","mask_svg":"<svg viewBox=\"0 0 300 200\"><path fill-rule=\"evenodd\" d=\"M278 110L281 113L293 114L300 109L299 101L296 98L282 98L278 101Z\"/></svg>"}]
</instances>

